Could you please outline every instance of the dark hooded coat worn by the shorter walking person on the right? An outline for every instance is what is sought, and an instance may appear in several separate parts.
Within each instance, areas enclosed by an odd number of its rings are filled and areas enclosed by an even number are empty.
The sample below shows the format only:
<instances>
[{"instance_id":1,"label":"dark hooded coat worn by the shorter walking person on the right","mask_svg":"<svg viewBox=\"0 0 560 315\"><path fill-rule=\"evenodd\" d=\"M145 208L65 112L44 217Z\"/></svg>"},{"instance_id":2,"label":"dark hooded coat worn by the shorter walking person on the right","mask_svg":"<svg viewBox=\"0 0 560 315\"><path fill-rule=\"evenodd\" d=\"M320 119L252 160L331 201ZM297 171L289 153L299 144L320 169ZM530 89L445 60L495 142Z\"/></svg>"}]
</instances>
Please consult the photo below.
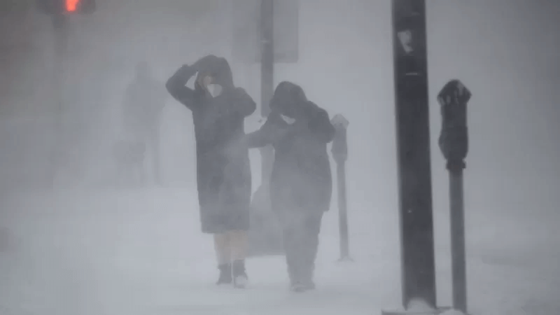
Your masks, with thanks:
<instances>
[{"instance_id":1,"label":"dark hooded coat worn by the shorter walking person on the right","mask_svg":"<svg viewBox=\"0 0 560 315\"><path fill-rule=\"evenodd\" d=\"M328 113L309 102L301 87L289 82L276 87L270 108L265 124L248 134L246 141L251 148L274 147L272 209L328 211L332 176L327 144L335 134ZM281 115L295 118L295 123L286 123Z\"/></svg>"}]
</instances>

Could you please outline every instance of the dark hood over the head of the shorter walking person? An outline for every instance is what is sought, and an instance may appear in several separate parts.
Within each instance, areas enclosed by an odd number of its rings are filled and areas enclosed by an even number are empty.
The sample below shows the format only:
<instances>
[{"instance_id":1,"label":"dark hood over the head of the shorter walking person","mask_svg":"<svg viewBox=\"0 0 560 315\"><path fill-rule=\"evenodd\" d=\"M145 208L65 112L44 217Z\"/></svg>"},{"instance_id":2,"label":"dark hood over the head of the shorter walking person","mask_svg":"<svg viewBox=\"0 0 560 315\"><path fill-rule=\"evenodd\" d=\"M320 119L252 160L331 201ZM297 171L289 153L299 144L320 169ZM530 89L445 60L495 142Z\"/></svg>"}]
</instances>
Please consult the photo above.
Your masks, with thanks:
<instances>
[{"instance_id":1,"label":"dark hood over the head of the shorter walking person","mask_svg":"<svg viewBox=\"0 0 560 315\"><path fill-rule=\"evenodd\" d=\"M289 81L283 81L276 86L274 96L270 101L270 109L279 111L283 115L295 118L302 104L307 103L307 97L302 87Z\"/></svg>"}]
</instances>

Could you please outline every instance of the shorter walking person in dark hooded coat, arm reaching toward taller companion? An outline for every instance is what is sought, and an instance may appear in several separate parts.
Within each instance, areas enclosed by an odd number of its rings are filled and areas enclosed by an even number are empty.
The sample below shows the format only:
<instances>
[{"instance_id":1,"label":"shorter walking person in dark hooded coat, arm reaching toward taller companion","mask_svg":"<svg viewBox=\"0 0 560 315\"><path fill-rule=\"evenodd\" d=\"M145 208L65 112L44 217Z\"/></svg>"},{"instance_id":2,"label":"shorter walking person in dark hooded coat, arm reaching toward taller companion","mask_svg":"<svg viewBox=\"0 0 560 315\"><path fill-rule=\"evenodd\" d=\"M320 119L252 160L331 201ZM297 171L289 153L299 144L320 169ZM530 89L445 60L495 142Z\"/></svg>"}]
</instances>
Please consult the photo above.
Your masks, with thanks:
<instances>
[{"instance_id":1,"label":"shorter walking person in dark hooded coat, arm reaching toward taller companion","mask_svg":"<svg viewBox=\"0 0 560 315\"><path fill-rule=\"evenodd\" d=\"M301 292L315 288L318 234L332 195L327 144L335 129L328 113L309 102L294 83L284 81L276 87L270 109L260 130L247 134L246 145L274 147L272 210L283 226L291 288Z\"/></svg>"}]
</instances>

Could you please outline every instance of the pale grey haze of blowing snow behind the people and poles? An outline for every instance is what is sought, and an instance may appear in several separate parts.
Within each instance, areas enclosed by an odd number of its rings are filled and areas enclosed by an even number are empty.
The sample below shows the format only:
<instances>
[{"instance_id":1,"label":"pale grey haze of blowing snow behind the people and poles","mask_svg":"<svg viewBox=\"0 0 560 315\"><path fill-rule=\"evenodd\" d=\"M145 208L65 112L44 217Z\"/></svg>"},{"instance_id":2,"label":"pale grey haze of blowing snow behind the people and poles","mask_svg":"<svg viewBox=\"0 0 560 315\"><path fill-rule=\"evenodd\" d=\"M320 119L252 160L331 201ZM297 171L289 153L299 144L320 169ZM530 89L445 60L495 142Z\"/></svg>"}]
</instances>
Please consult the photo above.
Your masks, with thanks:
<instances>
[{"instance_id":1,"label":"pale grey haze of blowing snow behind the people and poles","mask_svg":"<svg viewBox=\"0 0 560 315\"><path fill-rule=\"evenodd\" d=\"M230 56L231 1L97 2L96 13L69 21L65 97L72 104L67 128L75 137L67 141L73 143L70 160L77 161L74 169L80 172L67 167L59 186L99 188L110 182L119 106L138 60L151 62L163 84L181 64L207 53L221 55L230 59L236 84L260 100L258 65L235 63ZM426 2L438 251L449 251L449 200L437 148L441 121L435 95L447 80L458 78L473 94L465 172L469 255L498 265L557 266L560 5L549 0ZM56 137L48 102L54 52L50 20L34 10L2 17L0 27L0 181L6 214L14 211L8 204L23 198L15 191L48 186L45 157ZM349 216L351 224L365 226L355 228L364 234L354 232L351 246L370 239L371 244L353 246L353 251L371 255L393 253L398 246L392 54L391 1L300 0L299 62L275 69L276 83L293 80L330 116L342 113L350 121ZM249 118L247 130L258 127L259 119L258 113ZM192 120L172 99L164 113L162 151L164 179L192 192ZM251 159L256 188L258 152ZM334 198L333 210L335 204ZM335 216L329 214L332 227ZM336 236L333 228L328 237ZM559 279L556 269L547 269L546 277ZM555 288L560 292L560 285Z\"/></svg>"}]
</instances>

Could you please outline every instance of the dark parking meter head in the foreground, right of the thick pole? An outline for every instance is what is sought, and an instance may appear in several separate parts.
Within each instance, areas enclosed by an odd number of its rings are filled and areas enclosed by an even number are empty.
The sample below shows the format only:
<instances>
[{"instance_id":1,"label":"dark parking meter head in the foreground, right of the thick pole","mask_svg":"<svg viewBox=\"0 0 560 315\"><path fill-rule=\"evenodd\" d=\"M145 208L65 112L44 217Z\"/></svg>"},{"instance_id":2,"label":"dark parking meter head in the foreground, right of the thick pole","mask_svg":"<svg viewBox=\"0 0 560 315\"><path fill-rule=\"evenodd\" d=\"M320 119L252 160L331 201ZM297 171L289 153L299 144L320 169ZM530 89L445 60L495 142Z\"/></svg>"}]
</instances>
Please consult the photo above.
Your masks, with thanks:
<instances>
[{"instance_id":1,"label":"dark parking meter head in the foreground, right of the thick pole","mask_svg":"<svg viewBox=\"0 0 560 315\"><path fill-rule=\"evenodd\" d=\"M442 130L438 141L447 169L464 169L468 153L467 103L470 91L459 80L450 80L439 94Z\"/></svg>"}]
</instances>

